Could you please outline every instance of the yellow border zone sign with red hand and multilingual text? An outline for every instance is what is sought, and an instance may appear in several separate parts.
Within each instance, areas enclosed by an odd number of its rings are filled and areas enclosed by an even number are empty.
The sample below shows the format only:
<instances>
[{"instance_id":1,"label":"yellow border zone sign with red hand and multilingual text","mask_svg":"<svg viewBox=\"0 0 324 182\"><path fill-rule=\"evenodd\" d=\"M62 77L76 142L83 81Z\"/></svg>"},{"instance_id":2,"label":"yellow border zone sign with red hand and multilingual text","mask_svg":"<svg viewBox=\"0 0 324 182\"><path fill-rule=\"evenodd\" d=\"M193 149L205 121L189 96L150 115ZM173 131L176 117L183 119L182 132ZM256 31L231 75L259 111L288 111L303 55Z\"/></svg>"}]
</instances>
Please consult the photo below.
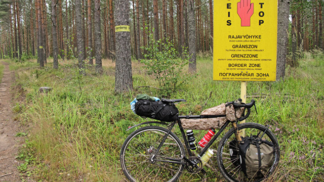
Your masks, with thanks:
<instances>
[{"instance_id":1,"label":"yellow border zone sign with red hand and multilingual text","mask_svg":"<svg viewBox=\"0 0 324 182\"><path fill-rule=\"evenodd\" d=\"M275 81L277 1L214 0L214 80Z\"/></svg>"}]
</instances>

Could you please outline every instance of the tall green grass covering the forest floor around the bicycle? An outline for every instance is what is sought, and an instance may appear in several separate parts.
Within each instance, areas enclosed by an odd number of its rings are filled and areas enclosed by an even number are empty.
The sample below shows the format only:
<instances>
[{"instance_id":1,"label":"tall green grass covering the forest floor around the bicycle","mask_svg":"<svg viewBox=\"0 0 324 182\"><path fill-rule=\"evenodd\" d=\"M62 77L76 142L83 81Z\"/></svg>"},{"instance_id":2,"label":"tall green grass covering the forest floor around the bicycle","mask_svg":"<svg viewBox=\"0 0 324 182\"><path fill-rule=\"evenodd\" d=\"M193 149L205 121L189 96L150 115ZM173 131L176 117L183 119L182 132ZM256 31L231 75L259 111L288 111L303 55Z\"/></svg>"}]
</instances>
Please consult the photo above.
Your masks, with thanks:
<instances>
[{"instance_id":1,"label":"tall green grass covering the forest floor around the bicycle","mask_svg":"<svg viewBox=\"0 0 324 182\"><path fill-rule=\"evenodd\" d=\"M73 65L52 69L52 64L39 69L35 63L12 64L17 70L16 84L25 92L25 103L15 109L22 123L31 125L28 149L35 162L24 171L34 171L35 180L48 181L123 181L119 164L120 147L129 126L146 121L130 110L137 94L160 97L152 77L133 62L134 91L114 94L114 68L106 74L92 74L77 80ZM212 81L213 63L210 57L197 59L197 74L179 87L170 98L186 99L178 104L180 114L199 114L207 109L239 97L240 82ZM257 111L252 110L247 122L270 124L281 147L280 165L273 181L322 181L324 156L324 62L321 55L306 54L300 67L287 68L281 82L248 82L248 101L255 99ZM184 70L185 71L185 70ZM39 94L41 86L52 87ZM212 97L204 106L212 92ZM134 130L134 129L133 129ZM178 131L175 131L178 132ZM195 131L197 140L206 131ZM216 157L216 155L215 155ZM216 159L214 160L216 166ZM30 172L28 173L30 174ZM25 174L26 176L26 174ZM185 181L184 175L180 181ZM220 172L209 172L208 181L222 179ZM193 175L191 179L199 179Z\"/></svg>"}]
</instances>

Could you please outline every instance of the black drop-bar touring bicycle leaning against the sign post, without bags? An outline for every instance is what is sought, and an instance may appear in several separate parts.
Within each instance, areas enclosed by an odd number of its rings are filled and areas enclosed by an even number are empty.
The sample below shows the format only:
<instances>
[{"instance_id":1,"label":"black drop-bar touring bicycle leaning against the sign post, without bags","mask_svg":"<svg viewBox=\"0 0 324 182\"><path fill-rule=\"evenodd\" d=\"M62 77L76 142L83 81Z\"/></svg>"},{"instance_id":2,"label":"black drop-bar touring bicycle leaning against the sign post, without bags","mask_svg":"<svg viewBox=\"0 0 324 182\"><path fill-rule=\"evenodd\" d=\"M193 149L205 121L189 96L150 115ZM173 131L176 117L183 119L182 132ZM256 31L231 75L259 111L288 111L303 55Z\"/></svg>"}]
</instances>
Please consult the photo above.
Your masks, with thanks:
<instances>
[{"instance_id":1,"label":"black drop-bar touring bicycle leaning against the sign post, without bags","mask_svg":"<svg viewBox=\"0 0 324 182\"><path fill-rule=\"evenodd\" d=\"M178 102L186 102L183 99L164 100L169 104ZM217 163L221 174L228 181L261 181L271 175L279 161L280 150L279 144L274 134L268 129L269 126L263 126L258 123L242 123L237 122L245 120L251 113L251 107L255 106L255 101L252 100L248 104L237 104L232 102L234 108L245 107L248 111L245 116L240 117L234 122L227 120L225 124L215 133L214 137L197 155L190 150L186 134L181 124L183 118L216 118L220 115L213 116L178 116L178 119L171 122L168 128L160 126L144 126L132 132L125 140L120 151L120 163L123 172L130 181L176 181L181 176L184 168L189 173L205 172L201 165L201 156L213 145L218 136L224 131L229 123L232 127L224 134L217 148ZM143 124L164 124L159 121L148 121L137 124L129 129ZM181 135L186 147L180 142L178 136L171 130L178 123ZM267 140L274 145L273 161L270 169L261 178L247 178L241 171L241 166L237 165L238 156L230 156L231 141L235 143L244 142L241 136L241 131L244 130L245 138L253 138L255 141ZM232 146L231 146L232 147Z\"/></svg>"}]
</instances>

